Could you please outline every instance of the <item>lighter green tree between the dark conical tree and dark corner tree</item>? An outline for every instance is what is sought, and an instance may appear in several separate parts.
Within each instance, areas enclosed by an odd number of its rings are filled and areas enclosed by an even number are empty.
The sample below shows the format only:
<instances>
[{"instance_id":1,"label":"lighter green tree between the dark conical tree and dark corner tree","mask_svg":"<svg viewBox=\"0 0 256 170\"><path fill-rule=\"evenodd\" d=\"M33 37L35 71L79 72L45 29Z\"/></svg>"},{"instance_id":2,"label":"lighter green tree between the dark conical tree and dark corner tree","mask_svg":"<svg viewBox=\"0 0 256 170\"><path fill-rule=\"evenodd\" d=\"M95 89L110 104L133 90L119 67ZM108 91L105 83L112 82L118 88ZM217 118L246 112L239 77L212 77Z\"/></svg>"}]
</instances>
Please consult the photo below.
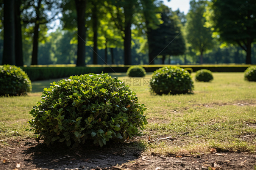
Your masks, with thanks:
<instances>
[{"instance_id":1,"label":"lighter green tree between the dark conical tree and dark corner tree","mask_svg":"<svg viewBox=\"0 0 256 170\"><path fill-rule=\"evenodd\" d=\"M203 63L203 54L213 48L212 31L205 27L206 19L203 16L208 1L190 1L190 9L187 14L186 39L191 47L200 53L200 64Z\"/></svg>"}]
</instances>

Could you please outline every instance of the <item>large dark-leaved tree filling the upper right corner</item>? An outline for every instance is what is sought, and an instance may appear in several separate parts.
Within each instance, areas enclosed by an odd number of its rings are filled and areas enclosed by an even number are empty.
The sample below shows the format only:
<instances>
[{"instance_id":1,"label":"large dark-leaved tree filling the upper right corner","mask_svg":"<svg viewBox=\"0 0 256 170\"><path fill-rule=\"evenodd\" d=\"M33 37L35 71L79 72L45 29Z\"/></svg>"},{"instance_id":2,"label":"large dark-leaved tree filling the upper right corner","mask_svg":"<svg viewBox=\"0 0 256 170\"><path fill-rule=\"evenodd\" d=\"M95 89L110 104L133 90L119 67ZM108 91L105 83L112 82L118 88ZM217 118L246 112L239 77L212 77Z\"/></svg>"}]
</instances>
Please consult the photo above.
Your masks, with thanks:
<instances>
[{"instance_id":1,"label":"large dark-leaved tree filling the upper right corner","mask_svg":"<svg viewBox=\"0 0 256 170\"><path fill-rule=\"evenodd\" d=\"M252 43L256 42L255 0L213 0L213 27L221 40L239 45L251 64Z\"/></svg>"}]
</instances>

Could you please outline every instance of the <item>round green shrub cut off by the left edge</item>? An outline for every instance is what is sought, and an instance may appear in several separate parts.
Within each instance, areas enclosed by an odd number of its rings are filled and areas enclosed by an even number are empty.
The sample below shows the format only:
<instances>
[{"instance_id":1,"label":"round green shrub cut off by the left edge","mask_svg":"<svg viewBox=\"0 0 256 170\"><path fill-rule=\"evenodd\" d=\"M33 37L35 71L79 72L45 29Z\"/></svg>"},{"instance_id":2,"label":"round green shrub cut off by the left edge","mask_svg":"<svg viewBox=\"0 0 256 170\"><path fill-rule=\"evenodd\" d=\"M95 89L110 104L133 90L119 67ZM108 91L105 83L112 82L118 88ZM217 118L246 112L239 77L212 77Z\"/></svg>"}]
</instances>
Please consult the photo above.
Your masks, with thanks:
<instances>
[{"instance_id":1,"label":"round green shrub cut off by the left edge","mask_svg":"<svg viewBox=\"0 0 256 170\"><path fill-rule=\"evenodd\" d=\"M1 65L0 82L0 96L19 96L32 90L28 75L20 67Z\"/></svg>"}]
</instances>

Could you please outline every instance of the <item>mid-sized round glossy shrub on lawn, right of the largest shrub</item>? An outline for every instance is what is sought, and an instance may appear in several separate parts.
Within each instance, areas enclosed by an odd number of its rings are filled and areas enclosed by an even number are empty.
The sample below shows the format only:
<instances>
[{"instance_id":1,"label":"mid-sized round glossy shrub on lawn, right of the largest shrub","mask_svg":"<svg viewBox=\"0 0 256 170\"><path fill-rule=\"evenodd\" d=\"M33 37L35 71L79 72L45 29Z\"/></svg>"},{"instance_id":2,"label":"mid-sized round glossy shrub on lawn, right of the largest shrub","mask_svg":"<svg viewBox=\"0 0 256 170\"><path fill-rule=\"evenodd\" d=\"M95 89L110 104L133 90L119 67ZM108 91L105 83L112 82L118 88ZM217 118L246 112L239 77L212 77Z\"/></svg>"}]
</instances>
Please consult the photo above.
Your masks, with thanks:
<instances>
[{"instance_id":1,"label":"mid-sized round glossy shrub on lawn, right of the largest shrub","mask_svg":"<svg viewBox=\"0 0 256 170\"><path fill-rule=\"evenodd\" d=\"M192 93L193 80L187 70L176 67L162 67L152 74L151 90L157 94Z\"/></svg>"}]
</instances>

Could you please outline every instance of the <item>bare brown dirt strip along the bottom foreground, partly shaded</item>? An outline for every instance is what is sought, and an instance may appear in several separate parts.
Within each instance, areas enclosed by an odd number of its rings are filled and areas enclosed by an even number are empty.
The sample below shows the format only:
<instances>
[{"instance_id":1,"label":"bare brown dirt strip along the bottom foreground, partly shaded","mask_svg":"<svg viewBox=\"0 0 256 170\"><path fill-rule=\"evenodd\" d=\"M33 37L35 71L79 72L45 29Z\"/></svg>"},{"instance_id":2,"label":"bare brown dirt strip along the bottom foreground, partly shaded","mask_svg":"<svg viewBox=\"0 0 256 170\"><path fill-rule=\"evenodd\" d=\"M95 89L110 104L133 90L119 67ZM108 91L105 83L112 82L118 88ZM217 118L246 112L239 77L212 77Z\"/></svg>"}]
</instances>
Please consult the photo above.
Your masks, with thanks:
<instances>
[{"instance_id":1,"label":"bare brown dirt strip along the bottom foreground, partly shaded","mask_svg":"<svg viewBox=\"0 0 256 170\"><path fill-rule=\"evenodd\" d=\"M170 140L171 142L171 140ZM254 169L256 155L242 153L213 153L176 156L147 155L136 142L98 148L94 146L67 148L64 145L47 147L32 139L7 142L0 147L0 169L3 170L100 170L100 169Z\"/></svg>"}]
</instances>

